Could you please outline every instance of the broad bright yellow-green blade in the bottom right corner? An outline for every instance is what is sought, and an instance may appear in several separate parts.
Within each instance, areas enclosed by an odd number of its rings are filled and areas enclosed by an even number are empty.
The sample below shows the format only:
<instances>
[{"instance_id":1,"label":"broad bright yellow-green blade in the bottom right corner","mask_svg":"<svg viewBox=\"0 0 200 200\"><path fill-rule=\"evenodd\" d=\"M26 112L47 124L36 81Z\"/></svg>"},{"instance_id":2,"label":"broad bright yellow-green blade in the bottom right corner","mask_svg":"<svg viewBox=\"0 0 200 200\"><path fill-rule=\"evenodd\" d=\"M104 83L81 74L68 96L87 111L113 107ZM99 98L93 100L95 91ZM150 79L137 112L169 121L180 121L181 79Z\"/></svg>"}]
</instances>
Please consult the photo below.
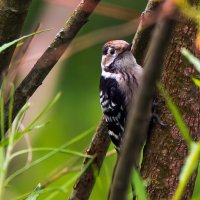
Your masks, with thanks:
<instances>
[{"instance_id":1,"label":"broad bright yellow-green blade in the bottom right corner","mask_svg":"<svg viewBox=\"0 0 200 200\"><path fill-rule=\"evenodd\" d=\"M192 176L194 170L196 170L200 158L200 143L191 143L190 154L187 156L185 164L181 170L180 181L178 188L175 192L173 200L180 200L187 183Z\"/></svg>"}]
</instances>

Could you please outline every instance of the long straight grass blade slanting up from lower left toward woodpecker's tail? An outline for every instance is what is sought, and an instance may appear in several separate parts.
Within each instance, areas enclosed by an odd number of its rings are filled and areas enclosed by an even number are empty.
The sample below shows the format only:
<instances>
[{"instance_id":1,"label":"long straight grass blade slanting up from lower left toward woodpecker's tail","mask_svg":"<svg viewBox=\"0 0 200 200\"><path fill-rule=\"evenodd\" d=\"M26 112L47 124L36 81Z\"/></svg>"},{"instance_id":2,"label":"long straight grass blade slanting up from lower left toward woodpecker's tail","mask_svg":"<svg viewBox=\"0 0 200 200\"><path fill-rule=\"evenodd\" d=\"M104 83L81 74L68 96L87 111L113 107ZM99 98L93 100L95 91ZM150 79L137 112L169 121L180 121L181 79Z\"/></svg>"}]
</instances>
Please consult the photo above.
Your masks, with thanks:
<instances>
[{"instance_id":1,"label":"long straight grass blade slanting up from lower left toward woodpecker's tail","mask_svg":"<svg viewBox=\"0 0 200 200\"><path fill-rule=\"evenodd\" d=\"M13 174L11 174L6 180L5 180L5 185L7 185L12 179L14 179L16 176L24 173L26 170L30 169L31 167L43 162L44 160L49 159L50 157L54 156L55 154L57 154L60 150L67 148L69 145L74 144L78 141L80 141L81 139L83 139L84 137L86 137L88 134L90 134L92 131L94 131L95 128L90 128L87 131L79 134L77 137L75 137L74 139L70 140L69 142L65 143L64 145L62 145L60 148L51 151L50 153L42 156L41 158L33 161L32 163L30 163L29 165L24 166L23 168L17 170L16 172L14 172Z\"/></svg>"}]
</instances>

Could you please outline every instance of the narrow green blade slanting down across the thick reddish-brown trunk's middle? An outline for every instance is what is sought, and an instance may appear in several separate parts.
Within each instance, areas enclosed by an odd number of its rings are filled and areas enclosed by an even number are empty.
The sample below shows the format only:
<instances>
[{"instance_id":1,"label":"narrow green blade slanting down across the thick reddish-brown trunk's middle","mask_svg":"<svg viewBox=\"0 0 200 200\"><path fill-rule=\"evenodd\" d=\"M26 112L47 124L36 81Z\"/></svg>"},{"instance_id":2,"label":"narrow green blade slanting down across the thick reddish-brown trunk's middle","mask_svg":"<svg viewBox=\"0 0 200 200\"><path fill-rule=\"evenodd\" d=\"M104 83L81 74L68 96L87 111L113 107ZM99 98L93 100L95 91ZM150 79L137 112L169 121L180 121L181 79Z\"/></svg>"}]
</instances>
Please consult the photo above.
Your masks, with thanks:
<instances>
[{"instance_id":1,"label":"narrow green blade slanting down across the thick reddish-brown trunk's middle","mask_svg":"<svg viewBox=\"0 0 200 200\"><path fill-rule=\"evenodd\" d=\"M158 83L157 87L159 88L162 96L165 98L167 106L175 118L176 124L181 132L182 137L187 142L188 146L190 146L190 143L193 140L192 140L192 137L190 136L189 129L188 129L187 125L185 124L185 121L183 120L181 113L179 112L178 107L175 105L175 103L172 101L171 97L164 90L163 85L161 83Z\"/></svg>"}]
</instances>

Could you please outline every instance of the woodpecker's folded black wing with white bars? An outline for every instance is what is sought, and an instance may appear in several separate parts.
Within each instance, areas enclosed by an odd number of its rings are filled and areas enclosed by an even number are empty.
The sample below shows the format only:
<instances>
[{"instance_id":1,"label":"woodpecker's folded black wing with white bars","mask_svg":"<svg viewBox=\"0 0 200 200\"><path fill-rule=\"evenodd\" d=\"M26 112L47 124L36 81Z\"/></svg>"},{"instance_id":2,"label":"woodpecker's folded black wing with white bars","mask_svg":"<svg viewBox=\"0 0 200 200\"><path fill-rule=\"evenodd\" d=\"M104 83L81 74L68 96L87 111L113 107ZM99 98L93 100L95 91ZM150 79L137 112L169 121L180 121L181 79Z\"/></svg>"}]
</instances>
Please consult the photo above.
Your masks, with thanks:
<instances>
[{"instance_id":1,"label":"woodpecker's folded black wing with white bars","mask_svg":"<svg viewBox=\"0 0 200 200\"><path fill-rule=\"evenodd\" d=\"M100 103L109 129L109 135L116 147L119 147L124 132L127 111L125 95L114 78L101 76Z\"/></svg>"}]
</instances>

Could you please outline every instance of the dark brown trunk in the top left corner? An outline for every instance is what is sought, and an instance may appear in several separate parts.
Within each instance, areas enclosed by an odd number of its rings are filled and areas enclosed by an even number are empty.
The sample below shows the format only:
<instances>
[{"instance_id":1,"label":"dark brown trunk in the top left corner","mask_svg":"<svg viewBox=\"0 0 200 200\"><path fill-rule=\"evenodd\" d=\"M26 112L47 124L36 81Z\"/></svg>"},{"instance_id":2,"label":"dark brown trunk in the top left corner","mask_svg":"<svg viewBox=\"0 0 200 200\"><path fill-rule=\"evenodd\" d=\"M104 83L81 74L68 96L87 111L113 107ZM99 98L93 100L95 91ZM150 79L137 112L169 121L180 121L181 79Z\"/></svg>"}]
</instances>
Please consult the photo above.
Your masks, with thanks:
<instances>
[{"instance_id":1,"label":"dark brown trunk in the top left corner","mask_svg":"<svg viewBox=\"0 0 200 200\"><path fill-rule=\"evenodd\" d=\"M31 0L0 0L0 46L20 36ZM0 83L2 73L10 64L15 46L0 54Z\"/></svg>"}]
</instances>

